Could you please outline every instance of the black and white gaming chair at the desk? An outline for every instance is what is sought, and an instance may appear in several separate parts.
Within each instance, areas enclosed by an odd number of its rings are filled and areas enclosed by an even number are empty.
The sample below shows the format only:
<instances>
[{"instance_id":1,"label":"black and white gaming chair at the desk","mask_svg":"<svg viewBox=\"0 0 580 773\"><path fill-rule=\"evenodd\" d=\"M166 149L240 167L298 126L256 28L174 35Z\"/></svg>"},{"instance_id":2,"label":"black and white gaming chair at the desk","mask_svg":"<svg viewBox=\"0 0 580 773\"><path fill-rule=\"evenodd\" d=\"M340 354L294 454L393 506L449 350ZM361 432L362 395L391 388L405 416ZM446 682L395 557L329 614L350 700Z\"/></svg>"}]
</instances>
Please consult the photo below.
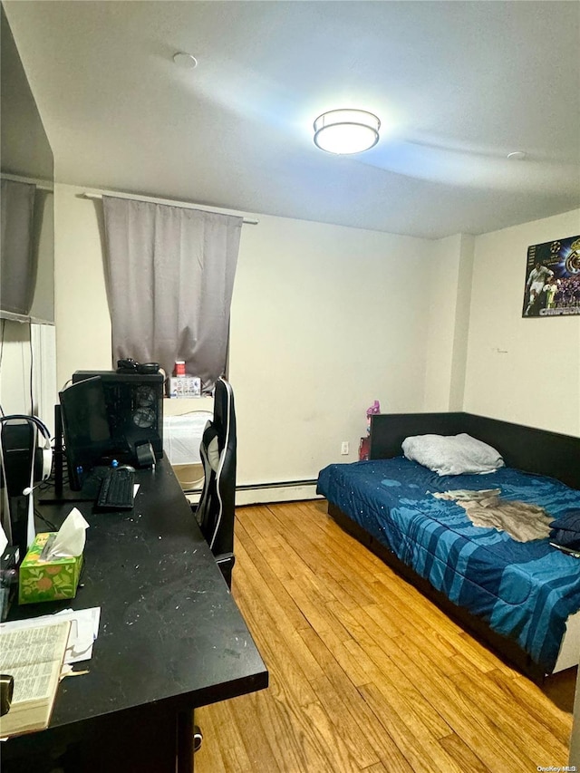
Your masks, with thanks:
<instances>
[{"instance_id":1,"label":"black and white gaming chair at the desk","mask_svg":"<svg viewBox=\"0 0 580 773\"><path fill-rule=\"evenodd\" d=\"M204 485L195 511L201 532L231 588L236 507L236 411L231 384L216 382L214 418L208 421L199 452Z\"/></svg>"}]
</instances>

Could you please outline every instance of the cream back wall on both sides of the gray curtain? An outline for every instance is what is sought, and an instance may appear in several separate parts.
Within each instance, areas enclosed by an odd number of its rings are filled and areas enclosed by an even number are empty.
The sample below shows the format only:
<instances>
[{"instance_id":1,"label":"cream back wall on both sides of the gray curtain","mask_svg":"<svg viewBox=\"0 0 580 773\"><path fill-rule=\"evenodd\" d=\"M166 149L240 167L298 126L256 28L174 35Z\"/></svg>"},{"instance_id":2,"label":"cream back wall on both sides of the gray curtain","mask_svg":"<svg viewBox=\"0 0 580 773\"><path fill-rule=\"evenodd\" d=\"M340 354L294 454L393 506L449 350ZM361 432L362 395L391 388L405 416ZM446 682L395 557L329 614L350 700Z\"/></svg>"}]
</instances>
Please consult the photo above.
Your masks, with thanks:
<instances>
[{"instance_id":1,"label":"cream back wall on both sides of the gray curtain","mask_svg":"<svg viewBox=\"0 0 580 773\"><path fill-rule=\"evenodd\" d=\"M75 370L111 368L101 204L82 192L56 187L61 387ZM432 242L257 217L242 229L232 302L238 484L311 479L353 461L375 399L383 411L423 410L433 302Z\"/></svg>"}]
</instances>

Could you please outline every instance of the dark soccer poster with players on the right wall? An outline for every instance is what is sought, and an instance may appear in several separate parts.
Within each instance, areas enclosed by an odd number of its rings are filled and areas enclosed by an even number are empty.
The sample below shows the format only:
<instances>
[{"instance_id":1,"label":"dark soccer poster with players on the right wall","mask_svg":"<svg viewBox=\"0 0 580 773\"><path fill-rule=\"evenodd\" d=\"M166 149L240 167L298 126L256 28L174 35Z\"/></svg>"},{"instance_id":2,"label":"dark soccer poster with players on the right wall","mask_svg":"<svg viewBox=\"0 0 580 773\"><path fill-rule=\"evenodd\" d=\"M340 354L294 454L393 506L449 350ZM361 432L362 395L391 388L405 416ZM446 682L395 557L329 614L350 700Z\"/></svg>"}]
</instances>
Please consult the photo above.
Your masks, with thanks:
<instances>
[{"instance_id":1,"label":"dark soccer poster with players on the right wall","mask_svg":"<svg viewBox=\"0 0 580 773\"><path fill-rule=\"evenodd\" d=\"M527 247L522 316L580 314L580 236Z\"/></svg>"}]
</instances>

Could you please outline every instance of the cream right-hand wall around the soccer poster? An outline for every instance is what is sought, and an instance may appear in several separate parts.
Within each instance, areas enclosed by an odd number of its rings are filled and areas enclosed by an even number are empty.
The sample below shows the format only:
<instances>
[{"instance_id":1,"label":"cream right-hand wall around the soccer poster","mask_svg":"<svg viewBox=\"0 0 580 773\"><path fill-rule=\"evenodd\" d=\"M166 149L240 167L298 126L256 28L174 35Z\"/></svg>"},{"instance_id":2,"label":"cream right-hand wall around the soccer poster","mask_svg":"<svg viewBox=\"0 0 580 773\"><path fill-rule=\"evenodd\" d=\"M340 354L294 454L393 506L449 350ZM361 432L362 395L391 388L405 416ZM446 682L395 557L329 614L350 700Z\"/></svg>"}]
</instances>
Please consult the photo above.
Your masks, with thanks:
<instances>
[{"instance_id":1,"label":"cream right-hand wall around the soccer poster","mask_svg":"<svg viewBox=\"0 0 580 773\"><path fill-rule=\"evenodd\" d=\"M580 210L475 240L464 409L580 435L580 318L522 318L527 247L580 233Z\"/></svg>"}]
</instances>

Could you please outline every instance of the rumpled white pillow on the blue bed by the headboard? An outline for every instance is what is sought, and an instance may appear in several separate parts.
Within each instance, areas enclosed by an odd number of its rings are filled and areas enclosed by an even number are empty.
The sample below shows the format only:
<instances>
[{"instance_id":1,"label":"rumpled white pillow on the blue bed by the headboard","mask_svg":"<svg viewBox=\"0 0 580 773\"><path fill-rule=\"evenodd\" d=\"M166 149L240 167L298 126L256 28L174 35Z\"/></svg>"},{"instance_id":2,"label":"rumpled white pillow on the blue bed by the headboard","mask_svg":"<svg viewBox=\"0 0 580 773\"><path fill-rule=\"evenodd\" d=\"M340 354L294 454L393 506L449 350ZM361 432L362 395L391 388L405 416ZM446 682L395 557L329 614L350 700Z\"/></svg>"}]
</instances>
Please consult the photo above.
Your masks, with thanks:
<instances>
[{"instance_id":1,"label":"rumpled white pillow on the blue bed by the headboard","mask_svg":"<svg viewBox=\"0 0 580 773\"><path fill-rule=\"evenodd\" d=\"M415 435L402 441L407 459L418 461L438 475L493 472L504 467L499 452L470 435Z\"/></svg>"}]
</instances>

